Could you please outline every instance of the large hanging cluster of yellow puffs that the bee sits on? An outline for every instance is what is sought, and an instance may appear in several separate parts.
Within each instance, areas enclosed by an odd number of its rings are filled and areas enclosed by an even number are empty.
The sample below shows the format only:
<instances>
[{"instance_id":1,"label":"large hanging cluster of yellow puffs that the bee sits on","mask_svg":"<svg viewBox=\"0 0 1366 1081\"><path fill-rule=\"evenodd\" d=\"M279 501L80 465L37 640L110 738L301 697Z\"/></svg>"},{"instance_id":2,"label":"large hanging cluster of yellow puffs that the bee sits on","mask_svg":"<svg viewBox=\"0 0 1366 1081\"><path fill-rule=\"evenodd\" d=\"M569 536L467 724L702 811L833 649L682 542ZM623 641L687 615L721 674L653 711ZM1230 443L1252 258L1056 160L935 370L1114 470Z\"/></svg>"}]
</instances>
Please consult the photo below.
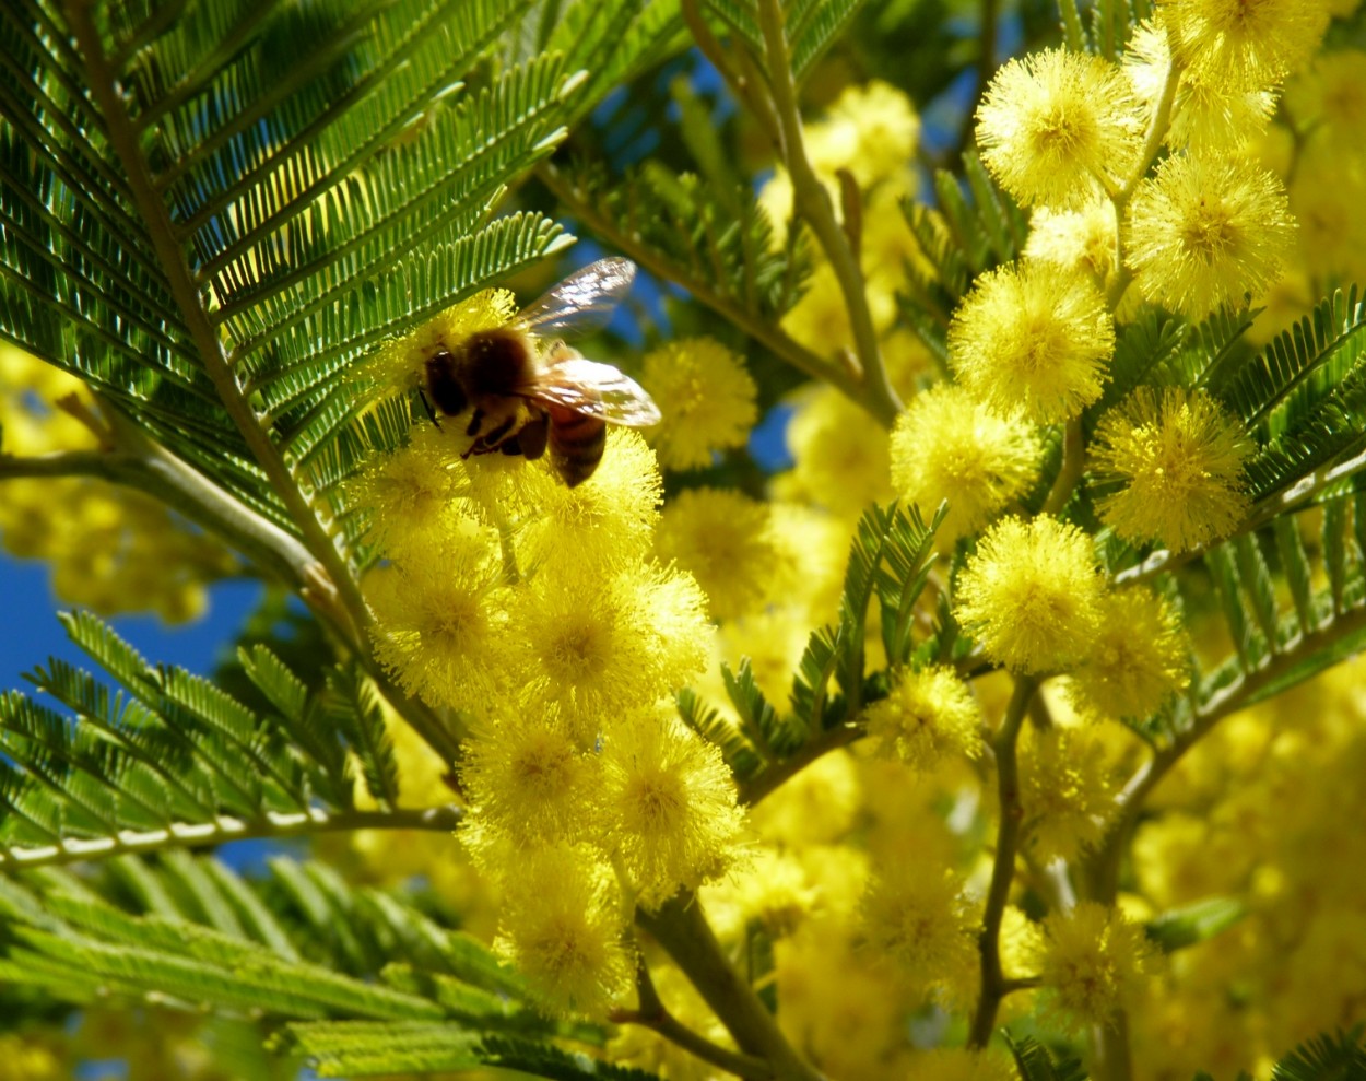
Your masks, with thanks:
<instances>
[{"instance_id":1,"label":"large hanging cluster of yellow puffs that the bee sits on","mask_svg":"<svg viewBox=\"0 0 1366 1081\"><path fill-rule=\"evenodd\" d=\"M490 305L445 323L504 310ZM729 771L669 701L708 659L706 597L652 556L661 481L634 432L613 429L572 489L544 462L462 459L447 435L419 426L352 488L388 559L366 584L376 653L473 719L462 834L503 891L499 948L548 1009L602 1015L634 974L632 905L739 851Z\"/></svg>"}]
</instances>

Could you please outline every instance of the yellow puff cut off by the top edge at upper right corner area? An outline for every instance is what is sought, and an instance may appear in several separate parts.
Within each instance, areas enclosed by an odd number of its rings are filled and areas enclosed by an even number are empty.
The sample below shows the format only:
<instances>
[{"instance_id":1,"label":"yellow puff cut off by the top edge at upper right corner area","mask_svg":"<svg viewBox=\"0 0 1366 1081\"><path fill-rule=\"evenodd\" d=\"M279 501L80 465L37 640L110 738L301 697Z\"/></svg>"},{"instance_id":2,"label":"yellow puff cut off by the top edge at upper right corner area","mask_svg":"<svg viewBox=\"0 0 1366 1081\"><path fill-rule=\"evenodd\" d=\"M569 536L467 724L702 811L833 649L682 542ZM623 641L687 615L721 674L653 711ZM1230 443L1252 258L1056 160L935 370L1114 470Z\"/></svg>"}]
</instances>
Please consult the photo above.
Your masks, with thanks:
<instances>
[{"instance_id":1,"label":"yellow puff cut off by the top edge at upper right corner area","mask_svg":"<svg viewBox=\"0 0 1366 1081\"><path fill-rule=\"evenodd\" d=\"M1299 70L1329 22L1326 0L1158 0L1157 15L1182 67L1239 90Z\"/></svg>"}]
</instances>

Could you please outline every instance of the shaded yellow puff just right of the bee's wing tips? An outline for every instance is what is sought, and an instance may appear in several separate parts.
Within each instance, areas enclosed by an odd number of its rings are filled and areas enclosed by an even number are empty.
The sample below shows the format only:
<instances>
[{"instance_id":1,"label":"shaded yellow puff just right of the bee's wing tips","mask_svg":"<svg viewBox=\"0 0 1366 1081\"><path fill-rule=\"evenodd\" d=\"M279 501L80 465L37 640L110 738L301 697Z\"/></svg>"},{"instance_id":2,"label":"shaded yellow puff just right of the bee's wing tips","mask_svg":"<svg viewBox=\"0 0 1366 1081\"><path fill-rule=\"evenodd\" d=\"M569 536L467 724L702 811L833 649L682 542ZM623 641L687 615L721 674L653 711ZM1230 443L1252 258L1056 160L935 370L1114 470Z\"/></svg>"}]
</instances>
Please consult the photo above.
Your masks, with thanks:
<instances>
[{"instance_id":1,"label":"shaded yellow puff just right of the bee's wing tips","mask_svg":"<svg viewBox=\"0 0 1366 1081\"><path fill-rule=\"evenodd\" d=\"M710 338L652 350L641 384L664 422L650 435L664 469L701 469L719 450L743 447L758 420L757 388L743 359Z\"/></svg>"}]
</instances>

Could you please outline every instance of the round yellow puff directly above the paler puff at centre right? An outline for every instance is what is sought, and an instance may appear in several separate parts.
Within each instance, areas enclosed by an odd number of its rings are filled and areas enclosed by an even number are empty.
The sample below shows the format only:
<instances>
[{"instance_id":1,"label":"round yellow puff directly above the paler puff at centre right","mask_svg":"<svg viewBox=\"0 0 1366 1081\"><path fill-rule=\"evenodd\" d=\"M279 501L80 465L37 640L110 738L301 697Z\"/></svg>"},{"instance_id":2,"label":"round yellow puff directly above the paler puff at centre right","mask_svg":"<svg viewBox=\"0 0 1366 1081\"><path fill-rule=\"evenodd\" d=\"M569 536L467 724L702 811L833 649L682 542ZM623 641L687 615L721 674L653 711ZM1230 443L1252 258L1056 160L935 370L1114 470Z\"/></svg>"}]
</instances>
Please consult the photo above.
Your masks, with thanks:
<instances>
[{"instance_id":1,"label":"round yellow puff directly above the paler puff at centre right","mask_svg":"<svg viewBox=\"0 0 1366 1081\"><path fill-rule=\"evenodd\" d=\"M1040 424L1075 417L1109 379L1115 328L1085 276L1026 262L979 276L948 328L949 362L967 391Z\"/></svg>"}]
</instances>

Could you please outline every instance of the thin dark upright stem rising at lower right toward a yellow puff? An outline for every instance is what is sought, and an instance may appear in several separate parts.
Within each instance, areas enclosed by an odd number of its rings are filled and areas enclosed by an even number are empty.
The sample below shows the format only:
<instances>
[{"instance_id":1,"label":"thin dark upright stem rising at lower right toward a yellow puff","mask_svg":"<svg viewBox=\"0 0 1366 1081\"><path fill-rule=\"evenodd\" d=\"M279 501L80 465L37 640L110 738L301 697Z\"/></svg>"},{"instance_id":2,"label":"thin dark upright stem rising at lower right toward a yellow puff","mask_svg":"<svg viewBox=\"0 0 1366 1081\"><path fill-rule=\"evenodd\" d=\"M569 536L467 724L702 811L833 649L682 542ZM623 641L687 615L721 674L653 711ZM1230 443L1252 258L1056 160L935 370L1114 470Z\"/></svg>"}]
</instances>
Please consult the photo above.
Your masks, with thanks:
<instances>
[{"instance_id":1,"label":"thin dark upright stem rising at lower right toward a yellow puff","mask_svg":"<svg viewBox=\"0 0 1366 1081\"><path fill-rule=\"evenodd\" d=\"M1000 802L1000 824L996 830L996 857L992 862L992 883L986 890L986 907L982 912L982 933L979 951L982 959L982 992L973 1014L967 1045L984 1048L992 1039L996 1026L996 1011L1007 992L1005 973L1001 969L1001 918L1009 901L1011 883L1015 880L1015 856L1019 849L1020 825L1024 808L1020 802L1019 760L1016 743L1020 727L1029 713L1030 698L1038 689L1038 679L1015 676L1015 690L1005 707L1005 716L996 733L996 787Z\"/></svg>"}]
</instances>

